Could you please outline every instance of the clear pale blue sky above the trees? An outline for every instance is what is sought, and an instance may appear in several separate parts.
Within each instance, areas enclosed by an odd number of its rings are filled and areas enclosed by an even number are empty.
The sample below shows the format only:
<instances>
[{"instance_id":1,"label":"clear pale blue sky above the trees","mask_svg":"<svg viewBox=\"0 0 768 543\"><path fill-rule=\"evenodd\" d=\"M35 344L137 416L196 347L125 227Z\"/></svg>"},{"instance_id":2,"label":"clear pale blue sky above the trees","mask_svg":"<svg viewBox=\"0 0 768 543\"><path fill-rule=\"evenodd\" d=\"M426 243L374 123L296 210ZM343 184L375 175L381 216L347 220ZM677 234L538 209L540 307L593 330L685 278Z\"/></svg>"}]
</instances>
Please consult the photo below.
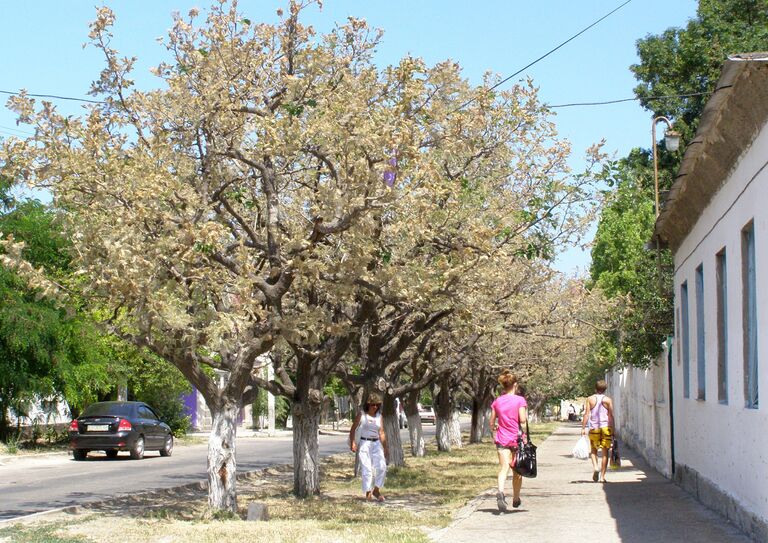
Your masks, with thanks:
<instances>
[{"instance_id":1,"label":"clear pale blue sky above the trees","mask_svg":"<svg viewBox=\"0 0 768 543\"><path fill-rule=\"evenodd\" d=\"M386 65L406 54L432 64L457 61L465 75L479 82L486 71L506 76L536 59L624 0L326 0L322 11L307 12L306 22L319 31L347 16L365 18L385 31L377 62ZM208 2L185 0L108 1L117 15L113 46L137 56L137 82L155 84L150 66L164 58L155 38L164 36L171 13L186 13ZM277 20L286 1L241 0L239 8L254 22ZM695 16L695 0L633 0L609 18L518 76L531 77L549 104L632 97L636 82L629 66L637 61L635 42ZM87 41L94 3L82 0L0 0L0 90L87 98L102 58ZM511 83L511 82L510 82ZM5 98L0 96L0 101ZM62 111L79 112L73 102L56 101ZM651 117L636 102L557 110L561 137L573 143L578 167L583 151L605 139L617 156L650 146ZM0 137L22 135L14 116L0 109ZM558 267L584 271L589 253L566 251Z\"/></svg>"}]
</instances>

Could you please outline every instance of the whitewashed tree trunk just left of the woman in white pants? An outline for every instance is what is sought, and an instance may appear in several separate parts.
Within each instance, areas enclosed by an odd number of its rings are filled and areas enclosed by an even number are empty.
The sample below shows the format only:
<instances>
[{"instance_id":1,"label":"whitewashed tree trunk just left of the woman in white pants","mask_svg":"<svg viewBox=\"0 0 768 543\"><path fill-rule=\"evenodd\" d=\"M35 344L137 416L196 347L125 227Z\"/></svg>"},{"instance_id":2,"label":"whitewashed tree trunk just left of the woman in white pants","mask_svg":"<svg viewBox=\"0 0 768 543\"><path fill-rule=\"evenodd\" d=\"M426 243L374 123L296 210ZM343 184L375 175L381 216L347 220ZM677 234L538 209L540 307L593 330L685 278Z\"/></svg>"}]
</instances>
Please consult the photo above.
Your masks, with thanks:
<instances>
[{"instance_id":1,"label":"whitewashed tree trunk just left of the woman in white pants","mask_svg":"<svg viewBox=\"0 0 768 543\"><path fill-rule=\"evenodd\" d=\"M317 391L315 391L317 392ZM293 493L299 498L320 494L320 462L317 434L322 403L294 403Z\"/></svg>"}]
</instances>

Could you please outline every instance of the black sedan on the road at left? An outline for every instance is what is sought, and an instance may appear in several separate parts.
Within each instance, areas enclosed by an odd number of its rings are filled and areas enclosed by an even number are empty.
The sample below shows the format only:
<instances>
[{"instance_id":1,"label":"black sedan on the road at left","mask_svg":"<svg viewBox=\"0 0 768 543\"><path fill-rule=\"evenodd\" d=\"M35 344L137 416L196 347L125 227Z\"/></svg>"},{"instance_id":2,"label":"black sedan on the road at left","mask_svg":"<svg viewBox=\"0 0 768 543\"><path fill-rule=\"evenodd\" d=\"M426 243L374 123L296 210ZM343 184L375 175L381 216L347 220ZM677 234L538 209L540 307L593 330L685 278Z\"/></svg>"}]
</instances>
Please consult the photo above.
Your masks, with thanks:
<instances>
[{"instance_id":1,"label":"black sedan on the road at left","mask_svg":"<svg viewBox=\"0 0 768 543\"><path fill-rule=\"evenodd\" d=\"M109 458L129 451L131 458L140 460L148 450L170 456L173 434L143 402L99 402L69 425L69 446L75 460L85 460L89 451L104 451Z\"/></svg>"}]
</instances>

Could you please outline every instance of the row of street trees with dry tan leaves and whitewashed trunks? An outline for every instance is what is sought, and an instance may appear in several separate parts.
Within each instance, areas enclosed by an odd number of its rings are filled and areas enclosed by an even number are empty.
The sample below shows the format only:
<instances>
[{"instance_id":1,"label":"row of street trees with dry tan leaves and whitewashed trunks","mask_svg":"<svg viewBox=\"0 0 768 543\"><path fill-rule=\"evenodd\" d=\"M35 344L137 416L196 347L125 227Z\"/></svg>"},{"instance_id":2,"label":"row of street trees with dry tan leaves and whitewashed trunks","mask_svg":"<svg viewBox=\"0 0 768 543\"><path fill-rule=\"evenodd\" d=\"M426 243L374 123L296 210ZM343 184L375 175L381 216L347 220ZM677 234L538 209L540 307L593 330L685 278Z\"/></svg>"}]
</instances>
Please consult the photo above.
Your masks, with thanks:
<instances>
[{"instance_id":1,"label":"row of street trees with dry tan leaves and whitewashed trunks","mask_svg":"<svg viewBox=\"0 0 768 543\"><path fill-rule=\"evenodd\" d=\"M603 307L548 265L598 203L599 149L574 175L530 82L492 90L491 76L473 86L455 63L411 57L378 69L380 32L351 18L317 35L304 7L277 25L223 0L204 21L176 17L153 91L134 88L135 59L110 47L114 16L99 8L101 102L74 118L12 98L35 136L0 150L4 175L51 191L73 273L52 283L9 237L2 262L98 307L103 327L200 391L216 509L236 507L236 414L260 389L292 403L294 490L309 496L332 376L386 393L402 464L395 397L413 454L427 387L439 448L460 445L462 388L476 421L501 367L529 380L534 402L557 396ZM228 373L223 388L211 369Z\"/></svg>"}]
</instances>

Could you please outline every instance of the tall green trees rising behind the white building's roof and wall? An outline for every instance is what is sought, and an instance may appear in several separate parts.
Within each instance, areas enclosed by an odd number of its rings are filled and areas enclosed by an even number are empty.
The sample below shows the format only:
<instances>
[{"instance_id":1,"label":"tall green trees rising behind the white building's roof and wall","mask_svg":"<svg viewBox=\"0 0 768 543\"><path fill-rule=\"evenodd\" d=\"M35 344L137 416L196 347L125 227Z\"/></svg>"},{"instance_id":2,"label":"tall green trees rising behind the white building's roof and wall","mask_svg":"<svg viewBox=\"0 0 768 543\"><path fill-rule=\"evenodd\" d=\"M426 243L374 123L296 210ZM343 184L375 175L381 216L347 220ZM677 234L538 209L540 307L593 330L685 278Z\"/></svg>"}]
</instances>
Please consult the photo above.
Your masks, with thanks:
<instances>
[{"instance_id":1,"label":"tall green trees rising behind the white building's roof and wall","mask_svg":"<svg viewBox=\"0 0 768 543\"><path fill-rule=\"evenodd\" d=\"M683 143L695 134L701 113L729 55L768 49L768 0L700 0L684 28L669 28L637 42L640 62L630 67L635 94L652 115L674 121ZM665 98L657 98L663 96ZM682 152L658 149L659 187L668 189ZM647 250L653 237L653 165L649 151L634 149L616 165L613 190L592 250L591 277L620 299L614 325L601 331L581 381L616 363L647 366L673 330L671 255Z\"/></svg>"}]
</instances>

